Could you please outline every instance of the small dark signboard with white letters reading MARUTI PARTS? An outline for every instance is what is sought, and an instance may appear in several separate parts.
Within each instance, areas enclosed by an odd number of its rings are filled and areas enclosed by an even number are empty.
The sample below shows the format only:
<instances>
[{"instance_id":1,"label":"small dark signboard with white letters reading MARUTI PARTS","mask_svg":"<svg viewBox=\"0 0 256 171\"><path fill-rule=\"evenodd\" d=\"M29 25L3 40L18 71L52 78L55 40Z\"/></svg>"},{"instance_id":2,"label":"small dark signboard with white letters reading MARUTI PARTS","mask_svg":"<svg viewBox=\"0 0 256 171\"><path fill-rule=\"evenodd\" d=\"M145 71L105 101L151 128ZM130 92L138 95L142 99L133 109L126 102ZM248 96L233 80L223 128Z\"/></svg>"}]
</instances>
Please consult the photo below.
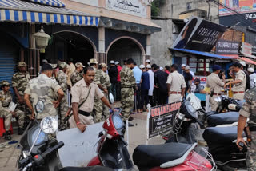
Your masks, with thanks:
<instances>
[{"instance_id":1,"label":"small dark signboard with white letters reading MARUTI PARTS","mask_svg":"<svg viewBox=\"0 0 256 171\"><path fill-rule=\"evenodd\" d=\"M238 54L239 42L218 40L216 54Z\"/></svg>"}]
</instances>

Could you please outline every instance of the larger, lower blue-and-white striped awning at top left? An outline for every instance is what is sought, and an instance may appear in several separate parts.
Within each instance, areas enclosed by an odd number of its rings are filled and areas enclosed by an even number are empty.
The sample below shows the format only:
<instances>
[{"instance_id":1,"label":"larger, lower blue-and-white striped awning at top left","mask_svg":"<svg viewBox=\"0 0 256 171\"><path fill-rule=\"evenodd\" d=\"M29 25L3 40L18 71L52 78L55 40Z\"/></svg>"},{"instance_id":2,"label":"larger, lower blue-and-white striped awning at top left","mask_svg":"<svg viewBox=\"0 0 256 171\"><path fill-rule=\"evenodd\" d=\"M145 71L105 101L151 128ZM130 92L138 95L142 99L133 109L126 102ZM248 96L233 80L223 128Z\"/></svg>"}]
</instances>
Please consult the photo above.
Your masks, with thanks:
<instances>
[{"instance_id":1,"label":"larger, lower blue-and-white striped awning at top left","mask_svg":"<svg viewBox=\"0 0 256 171\"><path fill-rule=\"evenodd\" d=\"M98 26L99 17L76 10L44 6L22 0L0 0L0 22Z\"/></svg>"}]
</instances>

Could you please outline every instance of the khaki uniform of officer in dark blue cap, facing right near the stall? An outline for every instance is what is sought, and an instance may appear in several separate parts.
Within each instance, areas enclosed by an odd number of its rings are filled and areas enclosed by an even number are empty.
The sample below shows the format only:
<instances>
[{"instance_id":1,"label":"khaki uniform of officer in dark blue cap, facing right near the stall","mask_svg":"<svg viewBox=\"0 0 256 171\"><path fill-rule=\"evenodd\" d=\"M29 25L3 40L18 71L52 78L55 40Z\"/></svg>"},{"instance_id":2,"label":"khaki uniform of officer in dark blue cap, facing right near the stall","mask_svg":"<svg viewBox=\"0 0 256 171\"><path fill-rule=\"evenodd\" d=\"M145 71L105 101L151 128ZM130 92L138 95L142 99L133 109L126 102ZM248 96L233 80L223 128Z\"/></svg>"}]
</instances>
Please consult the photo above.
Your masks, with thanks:
<instances>
[{"instance_id":1,"label":"khaki uniform of officer in dark blue cap, facing right near the stall","mask_svg":"<svg viewBox=\"0 0 256 171\"><path fill-rule=\"evenodd\" d=\"M210 107L212 111L216 111L218 108L218 102L215 101L215 98L222 94L224 82L222 82L222 80L218 77L218 74L215 73L210 74L206 80L206 86L210 88L210 92L214 93L214 95L210 97Z\"/></svg>"}]
</instances>

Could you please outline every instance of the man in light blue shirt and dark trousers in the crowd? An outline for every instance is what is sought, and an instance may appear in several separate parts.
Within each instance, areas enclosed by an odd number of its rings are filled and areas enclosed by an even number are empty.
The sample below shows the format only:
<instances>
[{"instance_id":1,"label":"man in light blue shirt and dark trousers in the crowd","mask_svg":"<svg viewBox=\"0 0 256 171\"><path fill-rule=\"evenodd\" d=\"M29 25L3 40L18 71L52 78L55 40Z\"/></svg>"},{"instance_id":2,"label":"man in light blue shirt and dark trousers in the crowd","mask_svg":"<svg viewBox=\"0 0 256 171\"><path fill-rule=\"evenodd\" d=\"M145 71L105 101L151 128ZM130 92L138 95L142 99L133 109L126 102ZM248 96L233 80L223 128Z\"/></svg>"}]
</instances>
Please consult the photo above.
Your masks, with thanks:
<instances>
[{"instance_id":1,"label":"man in light blue shirt and dark trousers in the crowd","mask_svg":"<svg viewBox=\"0 0 256 171\"><path fill-rule=\"evenodd\" d=\"M137 90L136 90L136 97L135 97L135 101L134 101L134 108L138 109L138 112L141 112L140 108L140 101L141 101L141 78L142 78L142 70L140 70L136 64L136 62L134 62L133 65L133 72L134 72L134 78L136 81L136 85L137 85Z\"/></svg>"}]
</instances>

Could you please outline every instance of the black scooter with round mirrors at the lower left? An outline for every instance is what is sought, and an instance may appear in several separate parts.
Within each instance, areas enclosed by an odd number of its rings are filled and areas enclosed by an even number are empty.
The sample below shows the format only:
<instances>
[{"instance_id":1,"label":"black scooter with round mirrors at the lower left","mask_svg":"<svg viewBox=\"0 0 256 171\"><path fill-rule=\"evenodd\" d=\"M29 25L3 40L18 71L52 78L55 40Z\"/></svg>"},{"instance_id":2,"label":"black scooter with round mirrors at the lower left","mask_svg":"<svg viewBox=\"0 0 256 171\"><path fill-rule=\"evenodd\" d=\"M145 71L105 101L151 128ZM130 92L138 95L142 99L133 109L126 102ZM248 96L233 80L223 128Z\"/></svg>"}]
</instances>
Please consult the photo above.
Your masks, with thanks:
<instances>
[{"instance_id":1,"label":"black scooter with round mirrors at the lower left","mask_svg":"<svg viewBox=\"0 0 256 171\"><path fill-rule=\"evenodd\" d=\"M42 111L43 102L38 102L36 106L37 113ZM58 149L62 148L64 143L57 141L52 135L58 129L58 120L55 117L45 117L39 123L30 121L25 132L22 135L19 145L21 154L18 157L16 167L21 171L89 171L106 170L114 171L106 167L66 167L62 168L58 160Z\"/></svg>"}]
</instances>

